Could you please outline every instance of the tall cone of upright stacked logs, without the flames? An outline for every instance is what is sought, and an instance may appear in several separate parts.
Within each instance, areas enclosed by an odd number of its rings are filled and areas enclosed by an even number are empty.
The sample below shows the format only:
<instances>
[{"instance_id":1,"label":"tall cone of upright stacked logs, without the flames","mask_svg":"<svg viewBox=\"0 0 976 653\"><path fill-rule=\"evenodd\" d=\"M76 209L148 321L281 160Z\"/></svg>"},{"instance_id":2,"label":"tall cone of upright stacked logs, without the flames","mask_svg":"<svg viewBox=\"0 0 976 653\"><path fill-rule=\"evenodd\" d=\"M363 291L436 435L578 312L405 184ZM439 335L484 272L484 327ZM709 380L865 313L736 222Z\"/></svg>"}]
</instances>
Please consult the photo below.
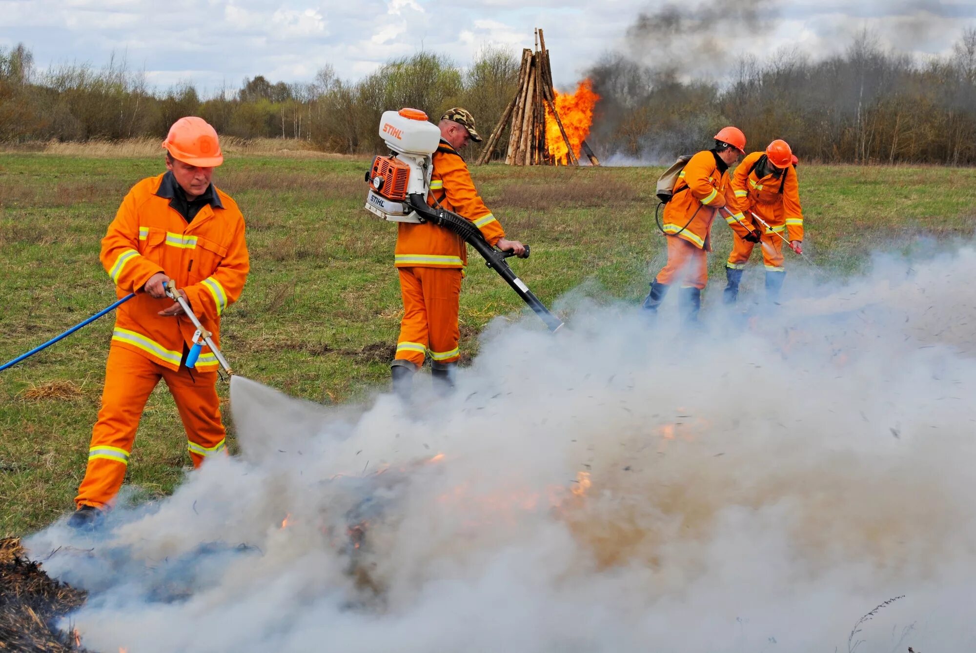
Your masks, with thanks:
<instances>
[{"instance_id":1,"label":"tall cone of upright stacked logs, without the flames","mask_svg":"<svg viewBox=\"0 0 976 653\"><path fill-rule=\"evenodd\" d=\"M569 164L579 166L580 162L569 143L569 136L562 126L559 113L555 110L555 93L552 89L552 69L549 66L549 50L546 49L546 39L542 29L536 29L536 51L526 48L522 51L522 64L518 71L518 90L508 102L502 119L488 136L481 156L477 163L485 164L501 140L507 125L508 151L505 163L509 166L542 166L554 165L555 159L549 154L546 140L546 112L553 117L559 127L559 134L569 149ZM584 143L586 145L586 143ZM589 147L585 148L590 150ZM589 152L588 152L589 156ZM593 165L599 165L595 157L590 156Z\"/></svg>"}]
</instances>

